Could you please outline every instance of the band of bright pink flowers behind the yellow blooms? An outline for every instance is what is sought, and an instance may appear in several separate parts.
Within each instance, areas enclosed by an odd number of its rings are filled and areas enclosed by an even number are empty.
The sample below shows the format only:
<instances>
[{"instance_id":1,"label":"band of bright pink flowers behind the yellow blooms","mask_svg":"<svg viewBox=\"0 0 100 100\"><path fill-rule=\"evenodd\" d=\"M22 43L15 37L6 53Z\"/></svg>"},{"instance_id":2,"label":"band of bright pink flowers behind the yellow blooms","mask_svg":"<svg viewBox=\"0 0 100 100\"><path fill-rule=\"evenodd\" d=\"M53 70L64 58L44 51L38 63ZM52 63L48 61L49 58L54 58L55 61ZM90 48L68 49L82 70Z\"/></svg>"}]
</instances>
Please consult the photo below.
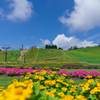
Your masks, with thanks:
<instances>
[{"instance_id":1,"label":"band of bright pink flowers behind the yellow blooms","mask_svg":"<svg viewBox=\"0 0 100 100\"><path fill-rule=\"evenodd\" d=\"M6 74L10 76L15 76L15 75L25 75L27 72L33 73L35 71L41 72L42 68L39 69L20 69L20 68L1 68L0 69L0 74ZM50 73L50 69L47 69L45 71L48 71ZM66 70L62 71L56 71L59 75L66 74L67 78L70 77L76 77L76 78L86 78L87 75L92 75L93 78L100 76L100 72L95 72L95 71L73 71L69 72Z\"/></svg>"}]
</instances>

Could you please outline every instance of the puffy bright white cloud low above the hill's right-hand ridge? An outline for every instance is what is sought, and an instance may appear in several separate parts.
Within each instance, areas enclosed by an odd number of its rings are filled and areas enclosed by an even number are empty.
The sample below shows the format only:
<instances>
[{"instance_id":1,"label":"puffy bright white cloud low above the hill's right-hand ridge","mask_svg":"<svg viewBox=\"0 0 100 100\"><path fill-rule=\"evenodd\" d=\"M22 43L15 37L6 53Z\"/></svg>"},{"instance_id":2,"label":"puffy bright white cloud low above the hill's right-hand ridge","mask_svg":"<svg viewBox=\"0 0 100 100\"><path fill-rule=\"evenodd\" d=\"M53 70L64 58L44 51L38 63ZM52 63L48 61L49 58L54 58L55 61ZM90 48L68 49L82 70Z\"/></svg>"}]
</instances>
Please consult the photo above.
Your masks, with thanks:
<instances>
[{"instance_id":1,"label":"puffy bright white cloud low above the hill's right-hand ridge","mask_svg":"<svg viewBox=\"0 0 100 100\"><path fill-rule=\"evenodd\" d=\"M53 45L57 45L57 47L61 47L64 50L67 50L70 47L77 46L77 47L86 47L86 46L98 46L98 44L93 43L93 41L80 41L78 38L66 37L64 34L58 35L54 41Z\"/></svg>"}]
</instances>

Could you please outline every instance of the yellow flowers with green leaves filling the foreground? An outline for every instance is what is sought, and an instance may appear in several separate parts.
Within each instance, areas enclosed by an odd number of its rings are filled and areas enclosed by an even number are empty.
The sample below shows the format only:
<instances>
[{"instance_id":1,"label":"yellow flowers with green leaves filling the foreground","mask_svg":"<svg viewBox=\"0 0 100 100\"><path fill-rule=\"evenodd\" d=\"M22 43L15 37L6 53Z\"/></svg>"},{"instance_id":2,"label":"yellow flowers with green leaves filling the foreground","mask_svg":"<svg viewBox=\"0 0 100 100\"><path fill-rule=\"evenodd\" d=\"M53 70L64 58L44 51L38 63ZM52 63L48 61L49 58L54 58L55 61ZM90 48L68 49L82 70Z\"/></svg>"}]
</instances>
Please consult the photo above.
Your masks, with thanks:
<instances>
[{"instance_id":1,"label":"yellow flowers with green leaves filling the foreground","mask_svg":"<svg viewBox=\"0 0 100 100\"><path fill-rule=\"evenodd\" d=\"M100 100L100 82L88 75L85 83L75 85L66 74L34 70L24 81L13 80L6 90L0 87L0 100Z\"/></svg>"}]
</instances>

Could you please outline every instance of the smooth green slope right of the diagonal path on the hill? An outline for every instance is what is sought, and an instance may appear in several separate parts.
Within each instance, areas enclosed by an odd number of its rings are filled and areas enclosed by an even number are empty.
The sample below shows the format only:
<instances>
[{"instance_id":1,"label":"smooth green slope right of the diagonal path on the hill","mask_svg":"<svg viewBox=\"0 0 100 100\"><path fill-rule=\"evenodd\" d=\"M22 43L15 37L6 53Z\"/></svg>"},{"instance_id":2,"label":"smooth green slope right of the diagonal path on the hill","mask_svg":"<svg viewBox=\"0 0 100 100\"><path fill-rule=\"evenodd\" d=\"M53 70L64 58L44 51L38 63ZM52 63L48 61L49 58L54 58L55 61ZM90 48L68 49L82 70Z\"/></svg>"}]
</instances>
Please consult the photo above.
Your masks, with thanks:
<instances>
[{"instance_id":1,"label":"smooth green slope right of the diagonal path on the hill","mask_svg":"<svg viewBox=\"0 0 100 100\"><path fill-rule=\"evenodd\" d=\"M100 46L87 47L77 50L71 50L64 52L72 58L72 60L80 61L80 59L86 59L88 61L100 63Z\"/></svg>"}]
</instances>

